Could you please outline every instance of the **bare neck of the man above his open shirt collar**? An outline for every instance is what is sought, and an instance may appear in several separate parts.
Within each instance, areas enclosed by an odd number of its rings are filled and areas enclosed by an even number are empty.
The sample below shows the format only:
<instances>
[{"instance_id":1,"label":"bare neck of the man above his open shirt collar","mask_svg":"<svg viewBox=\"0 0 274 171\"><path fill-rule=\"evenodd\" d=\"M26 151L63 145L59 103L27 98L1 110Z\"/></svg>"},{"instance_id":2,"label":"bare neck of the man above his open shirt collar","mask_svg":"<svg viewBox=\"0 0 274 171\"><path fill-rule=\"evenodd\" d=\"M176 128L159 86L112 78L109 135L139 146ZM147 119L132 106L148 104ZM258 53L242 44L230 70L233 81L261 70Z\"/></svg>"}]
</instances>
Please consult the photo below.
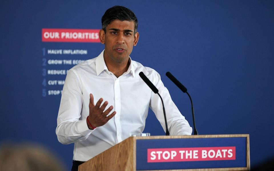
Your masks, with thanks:
<instances>
[{"instance_id":1,"label":"bare neck of the man above his open shirt collar","mask_svg":"<svg viewBox=\"0 0 274 171\"><path fill-rule=\"evenodd\" d=\"M124 62L112 62L106 60L105 58L104 60L108 70L112 72L117 78L123 75L128 70L128 67L130 65L129 58Z\"/></svg>"}]
</instances>

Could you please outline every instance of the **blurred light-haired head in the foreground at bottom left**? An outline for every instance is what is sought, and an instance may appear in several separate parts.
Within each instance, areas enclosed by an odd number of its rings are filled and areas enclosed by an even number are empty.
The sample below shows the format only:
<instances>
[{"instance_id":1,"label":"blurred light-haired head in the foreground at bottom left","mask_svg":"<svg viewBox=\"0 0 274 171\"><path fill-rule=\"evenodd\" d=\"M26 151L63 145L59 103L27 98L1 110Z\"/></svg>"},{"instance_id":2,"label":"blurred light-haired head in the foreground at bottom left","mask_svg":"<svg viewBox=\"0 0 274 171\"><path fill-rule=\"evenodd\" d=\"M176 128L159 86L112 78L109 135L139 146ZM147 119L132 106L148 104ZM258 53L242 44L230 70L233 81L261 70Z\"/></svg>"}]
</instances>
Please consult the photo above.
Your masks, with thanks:
<instances>
[{"instance_id":1,"label":"blurred light-haired head in the foreground at bottom left","mask_svg":"<svg viewBox=\"0 0 274 171\"><path fill-rule=\"evenodd\" d=\"M0 171L60 171L63 164L48 150L28 145L0 147Z\"/></svg>"}]
</instances>

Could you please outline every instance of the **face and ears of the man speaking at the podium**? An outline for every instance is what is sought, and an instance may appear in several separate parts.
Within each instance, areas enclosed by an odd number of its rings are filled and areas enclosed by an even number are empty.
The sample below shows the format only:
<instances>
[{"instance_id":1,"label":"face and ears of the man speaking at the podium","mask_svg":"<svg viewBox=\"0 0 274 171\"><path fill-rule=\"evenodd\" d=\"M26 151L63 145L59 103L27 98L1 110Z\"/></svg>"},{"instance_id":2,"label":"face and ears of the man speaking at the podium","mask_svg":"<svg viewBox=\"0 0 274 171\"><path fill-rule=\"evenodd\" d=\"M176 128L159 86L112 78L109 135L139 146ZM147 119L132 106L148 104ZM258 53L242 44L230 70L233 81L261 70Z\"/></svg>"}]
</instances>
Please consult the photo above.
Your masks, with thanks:
<instances>
[{"instance_id":1,"label":"face and ears of the man speaking at the podium","mask_svg":"<svg viewBox=\"0 0 274 171\"><path fill-rule=\"evenodd\" d=\"M125 62L136 46L139 33L134 35L134 21L114 20L106 27L106 33L100 30L100 40L105 44L104 58L112 62Z\"/></svg>"}]
</instances>

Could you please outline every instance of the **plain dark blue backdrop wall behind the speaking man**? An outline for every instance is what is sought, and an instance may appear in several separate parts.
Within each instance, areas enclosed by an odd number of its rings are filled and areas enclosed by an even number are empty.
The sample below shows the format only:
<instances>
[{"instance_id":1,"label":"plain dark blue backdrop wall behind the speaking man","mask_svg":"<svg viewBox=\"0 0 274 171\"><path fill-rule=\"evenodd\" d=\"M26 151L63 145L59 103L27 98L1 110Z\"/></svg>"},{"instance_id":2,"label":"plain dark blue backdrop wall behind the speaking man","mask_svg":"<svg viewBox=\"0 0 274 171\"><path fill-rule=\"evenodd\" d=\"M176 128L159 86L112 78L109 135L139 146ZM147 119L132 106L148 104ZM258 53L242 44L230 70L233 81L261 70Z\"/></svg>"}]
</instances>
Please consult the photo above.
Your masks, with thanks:
<instances>
[{"instance_id":1,"label":"plain dark blue backdrop wall behind the speaking man","mask_svg":"<svg viewBox=\"0 0 274 171\"><path fill-rule=\"evenodd\" d=\"M2 2L2 143L40 143L71 167L73 144L62 145L55 135L61 95L48 94L62 85L47 82L65 76L42 74L73 65L44 64L43 58L87 60L96 57L104 45L42 42L41 30L100 29L102 15L114 5L130 8L138 18L140 39L130 56L159 72L192 126L187 95L165 73L170 71L188 88L200 135L250 134L251 167L274 156L273 1ZM48 49L83 49L88 54L43 56ZM151 111L144 132L164 135Z\"/></svg>"}]
</instances>

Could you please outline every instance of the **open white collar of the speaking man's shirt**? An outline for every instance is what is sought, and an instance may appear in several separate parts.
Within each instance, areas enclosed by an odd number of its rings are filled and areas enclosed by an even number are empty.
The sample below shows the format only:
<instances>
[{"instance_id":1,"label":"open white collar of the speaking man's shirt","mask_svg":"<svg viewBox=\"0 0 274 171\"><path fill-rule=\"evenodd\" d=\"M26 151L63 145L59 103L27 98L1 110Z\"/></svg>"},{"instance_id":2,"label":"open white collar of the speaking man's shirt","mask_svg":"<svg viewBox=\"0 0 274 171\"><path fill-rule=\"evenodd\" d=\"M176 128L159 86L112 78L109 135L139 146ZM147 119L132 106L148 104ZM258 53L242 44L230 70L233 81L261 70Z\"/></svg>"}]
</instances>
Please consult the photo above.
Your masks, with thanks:
<instances>
[{"instance_id":1,"label":"open white collar of the speaking man's shirt","mask_svg":"<svg viewBox=\"0 0 274 171\"><path fill-rule=\"evenodd\" d=\"M96 58L96 73L97 73L97 76L104 70L107 70L108 71L108 67L106 67L106 63L105 63L105 60L104 60L104 51L103 50L99 56L97 56ZM130 62L130 65L128 67L128 70L126 71L126 74L132 73L132 76L135 77L135 72L134 72L134 66L132 64L132 60L131 58L129 57L129 62Z\"/></svg>"}]
</instances>

